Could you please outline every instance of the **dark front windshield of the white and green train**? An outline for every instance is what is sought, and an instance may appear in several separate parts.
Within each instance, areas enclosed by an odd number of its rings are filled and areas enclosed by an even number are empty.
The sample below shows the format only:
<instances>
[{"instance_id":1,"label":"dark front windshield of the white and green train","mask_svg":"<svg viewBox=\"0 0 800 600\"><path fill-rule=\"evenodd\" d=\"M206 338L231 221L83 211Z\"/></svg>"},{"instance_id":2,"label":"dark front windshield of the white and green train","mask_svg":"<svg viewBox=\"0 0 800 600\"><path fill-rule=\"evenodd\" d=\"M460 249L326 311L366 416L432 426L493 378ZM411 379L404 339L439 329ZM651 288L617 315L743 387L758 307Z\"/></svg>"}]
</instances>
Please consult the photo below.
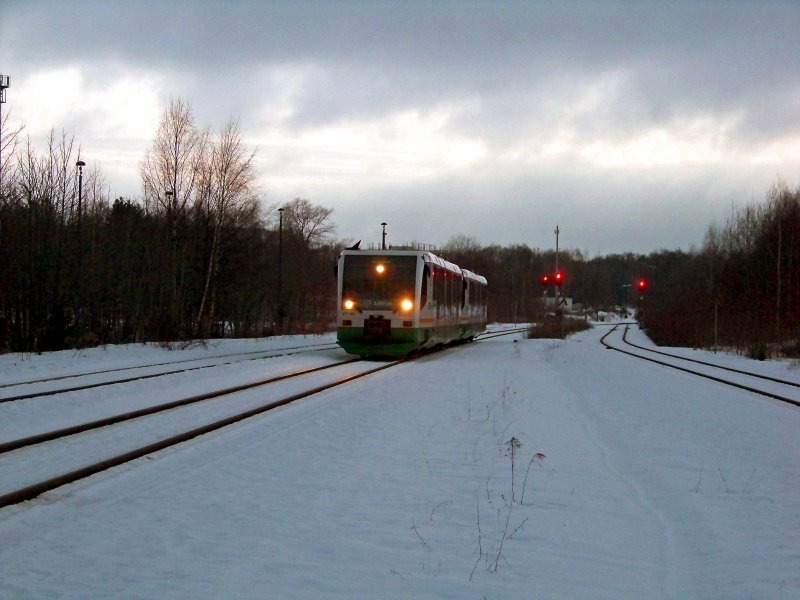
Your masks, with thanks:
<instances>
[{"instance_id":1,"label":"dark front windshield of the white and green train","mask_svg":"<svg viewBox=\"0 0 800 600\"><path fill-rule=\"evenodd\" d=\"M346 256L342 298L366 310L397 310L414 299L416 256Z\"/></svg>"}]
</instances>

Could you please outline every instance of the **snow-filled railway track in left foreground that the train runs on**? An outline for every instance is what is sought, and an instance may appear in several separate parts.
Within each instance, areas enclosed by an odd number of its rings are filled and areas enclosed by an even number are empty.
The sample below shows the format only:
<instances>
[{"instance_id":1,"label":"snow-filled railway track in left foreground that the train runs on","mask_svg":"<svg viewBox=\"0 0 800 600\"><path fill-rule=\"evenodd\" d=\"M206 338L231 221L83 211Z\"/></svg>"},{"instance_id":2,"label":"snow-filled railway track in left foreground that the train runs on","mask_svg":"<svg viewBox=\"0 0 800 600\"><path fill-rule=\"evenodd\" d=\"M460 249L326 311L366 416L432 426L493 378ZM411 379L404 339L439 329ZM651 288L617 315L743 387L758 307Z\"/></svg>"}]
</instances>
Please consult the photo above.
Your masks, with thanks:
<instances>
[{"instance_id":1,"label":"snow-filled railway track in left foreground that the train runs on","mask_svg":"<svg viewBox=\"0 0 800 600\"><path fill-rule=\"evenodd\" d=\"M525 328L487 332L480 339L522 331ZM425 356L429 354L418 358ZM1 442L0 508L410 360L415 359L375 363L349 358ZM198 368L205 367L190 367ZM142 378L126 377L115 383ZM293 384L287 385L290 381ZM87 384L80 389L98 385L110 383ZM75 391L76 387L50 394Z\"/></svg>"}]
</instances>

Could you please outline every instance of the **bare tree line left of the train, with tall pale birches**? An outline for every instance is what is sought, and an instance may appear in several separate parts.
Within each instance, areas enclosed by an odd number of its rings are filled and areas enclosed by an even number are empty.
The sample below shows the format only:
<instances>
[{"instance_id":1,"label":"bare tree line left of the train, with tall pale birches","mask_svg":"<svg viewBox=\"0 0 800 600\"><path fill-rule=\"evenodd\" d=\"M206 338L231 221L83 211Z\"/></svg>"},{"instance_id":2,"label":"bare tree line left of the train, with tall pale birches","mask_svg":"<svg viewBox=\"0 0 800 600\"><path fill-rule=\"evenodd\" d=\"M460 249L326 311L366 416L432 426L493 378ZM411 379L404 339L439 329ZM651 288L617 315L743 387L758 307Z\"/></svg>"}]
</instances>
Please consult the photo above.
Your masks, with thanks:
<instances>
[{"instance_id":1,"label":"bare tree line left of the train, with tall pale birches","mask_svg":"<svg viewBox=\"0 0 800 600\"><path fill-rule=\"evenodd\" d=\"M263 336L333 319L330 209L264 207L235 121L164 112L141 198L110 198L74 137L3 130L0 351ZM324 323L324 325L321 325Z\"/></svg>"}]
</instances>

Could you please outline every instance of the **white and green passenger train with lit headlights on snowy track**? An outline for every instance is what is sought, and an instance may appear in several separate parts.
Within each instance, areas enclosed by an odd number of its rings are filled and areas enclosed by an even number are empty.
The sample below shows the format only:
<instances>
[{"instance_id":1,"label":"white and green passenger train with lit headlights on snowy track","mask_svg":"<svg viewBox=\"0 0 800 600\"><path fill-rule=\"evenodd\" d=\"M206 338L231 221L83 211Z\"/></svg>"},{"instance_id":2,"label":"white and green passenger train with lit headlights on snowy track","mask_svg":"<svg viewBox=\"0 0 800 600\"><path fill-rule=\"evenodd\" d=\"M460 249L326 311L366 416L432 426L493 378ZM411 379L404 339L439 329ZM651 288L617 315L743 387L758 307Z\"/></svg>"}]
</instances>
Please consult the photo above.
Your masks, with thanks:
<instances>
[{"instance_id":1,"label":"white and green passenger train with lit headlights on snowy track","mask_svg":"<svg viewBox=\"0 0 800 600\"><path fill-rule=\"evenodd\" d=\"M337 343L401 357L486 330L486 278L423 250L344 250L336 263Z\"/></svg>"}]
</instances>

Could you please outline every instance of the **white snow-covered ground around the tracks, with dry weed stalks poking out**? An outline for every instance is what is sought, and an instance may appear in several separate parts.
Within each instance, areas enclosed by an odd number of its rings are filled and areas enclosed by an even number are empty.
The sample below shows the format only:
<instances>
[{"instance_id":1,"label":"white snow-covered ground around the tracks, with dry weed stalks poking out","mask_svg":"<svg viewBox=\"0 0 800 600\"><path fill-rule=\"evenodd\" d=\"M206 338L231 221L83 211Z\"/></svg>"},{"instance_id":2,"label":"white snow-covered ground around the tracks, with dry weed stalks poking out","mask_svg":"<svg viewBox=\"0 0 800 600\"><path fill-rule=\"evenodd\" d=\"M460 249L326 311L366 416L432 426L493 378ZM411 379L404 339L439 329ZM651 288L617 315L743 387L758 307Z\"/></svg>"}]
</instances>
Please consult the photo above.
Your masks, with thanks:
<instances>
[{"instance_id":1,"label":"white snow-covered ground around the tracks, with dry weed stalks poking out","mask_svg":"<svg viewBox=\"0 0 800 600\"><path fill-rule=\"evenodd\" d=\"M607 331L464 346L2 509L0 598L800 597L800 409ZM0 384L178 355L8 355Z\"/></svg>"}]
</instances>

